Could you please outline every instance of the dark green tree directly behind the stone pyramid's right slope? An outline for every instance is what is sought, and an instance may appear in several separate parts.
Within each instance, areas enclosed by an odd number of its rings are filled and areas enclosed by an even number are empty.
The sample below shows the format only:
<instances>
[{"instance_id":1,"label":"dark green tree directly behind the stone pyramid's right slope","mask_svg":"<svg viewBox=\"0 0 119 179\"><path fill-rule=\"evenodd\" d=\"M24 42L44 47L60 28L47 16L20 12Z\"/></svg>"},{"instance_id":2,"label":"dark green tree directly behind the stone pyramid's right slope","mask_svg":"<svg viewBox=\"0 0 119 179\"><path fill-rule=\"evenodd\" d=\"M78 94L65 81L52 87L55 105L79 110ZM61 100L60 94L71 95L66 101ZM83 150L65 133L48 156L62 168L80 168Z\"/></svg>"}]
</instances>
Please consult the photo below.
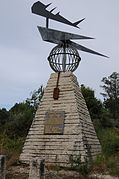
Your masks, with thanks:
<instances>
[{"instance_id":1,"label":"dark green tree directly behind the stone pyramid's right slope","mask_svg":"<svg viewBox=\"0 0 119 179\"><path fill-rule=\"evenodd\" d=\"M104 108L103 103L95 97L95 92L84 85L81 85L81 92L95 128L98 130L99 128L113 127L114 121L110 119L109 112Z\"/></svg>"}]
</instances>

